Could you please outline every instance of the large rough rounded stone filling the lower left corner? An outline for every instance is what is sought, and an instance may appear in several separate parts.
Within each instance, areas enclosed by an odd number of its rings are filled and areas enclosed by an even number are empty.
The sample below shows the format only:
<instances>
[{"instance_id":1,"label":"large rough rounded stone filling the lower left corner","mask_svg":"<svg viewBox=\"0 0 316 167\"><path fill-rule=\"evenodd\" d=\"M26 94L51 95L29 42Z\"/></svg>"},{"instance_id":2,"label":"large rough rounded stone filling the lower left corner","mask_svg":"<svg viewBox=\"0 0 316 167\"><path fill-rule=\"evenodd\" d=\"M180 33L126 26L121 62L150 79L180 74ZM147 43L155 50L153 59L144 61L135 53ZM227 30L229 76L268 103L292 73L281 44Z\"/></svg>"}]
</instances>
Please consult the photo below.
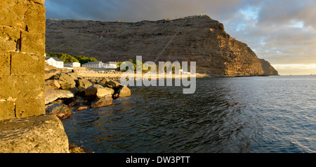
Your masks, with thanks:
<instances>
[{"instance_id":1,"label":"large rough rounded stone filling the lower left corner","mask_svg":"<svg viewBox=\"0 0 316 167\"><path fill-rule=\"evenodd\" d=\"M64 126L55 115L0 122L0 153L69 153Z\"/></svg>"}]
</instances>

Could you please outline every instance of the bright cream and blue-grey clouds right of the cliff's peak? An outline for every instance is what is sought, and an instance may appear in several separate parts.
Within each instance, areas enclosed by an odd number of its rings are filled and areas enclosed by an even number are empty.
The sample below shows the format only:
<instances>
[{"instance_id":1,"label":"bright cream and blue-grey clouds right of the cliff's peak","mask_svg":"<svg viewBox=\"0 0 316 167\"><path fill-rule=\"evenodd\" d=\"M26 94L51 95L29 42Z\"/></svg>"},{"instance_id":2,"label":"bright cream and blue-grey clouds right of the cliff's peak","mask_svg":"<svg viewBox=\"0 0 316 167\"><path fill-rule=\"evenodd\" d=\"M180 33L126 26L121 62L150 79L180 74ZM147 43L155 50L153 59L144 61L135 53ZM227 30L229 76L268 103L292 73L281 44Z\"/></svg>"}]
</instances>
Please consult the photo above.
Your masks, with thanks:
<instances>
[{"instance_id":1,"label":"bright cream and blue-grey clouds right of the cliff's peak","mask_svg":"<svg viewBox=\"0 0 316 167\"><path fill-rule=\"evenodd\" d=\"M246 15L254 9L252 17ZM248 3L224 25L231 36L272 64L315 64L315 14L315 1L261 1Z\"/></svg>"}]
</instances>

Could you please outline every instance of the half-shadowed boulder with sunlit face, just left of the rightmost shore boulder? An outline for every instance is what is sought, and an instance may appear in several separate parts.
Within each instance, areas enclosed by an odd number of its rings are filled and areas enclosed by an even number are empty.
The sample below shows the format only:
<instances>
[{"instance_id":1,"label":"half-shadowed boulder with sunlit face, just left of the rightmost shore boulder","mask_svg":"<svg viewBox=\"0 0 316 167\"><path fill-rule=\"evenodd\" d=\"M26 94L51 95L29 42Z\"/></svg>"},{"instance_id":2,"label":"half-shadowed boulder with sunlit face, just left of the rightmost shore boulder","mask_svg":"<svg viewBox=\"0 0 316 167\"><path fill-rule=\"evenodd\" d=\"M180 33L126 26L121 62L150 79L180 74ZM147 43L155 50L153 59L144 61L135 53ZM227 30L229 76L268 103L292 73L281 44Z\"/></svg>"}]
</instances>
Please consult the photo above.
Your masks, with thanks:
<instances>
[{"instance_id":1,"label":"half-shadowed boulder with sunlit face, just left of the rightmost shore boulder","mask_svg":"<svg viewBox=\"0 0 316 167\"><path fill-rule=\"evenodd\" d=\"M114 89L103 87L101 85L93 85L85 90L85 94L86 96L98 97L100 99L106 95L114 94Z\"/></svg>"}]
</instances>

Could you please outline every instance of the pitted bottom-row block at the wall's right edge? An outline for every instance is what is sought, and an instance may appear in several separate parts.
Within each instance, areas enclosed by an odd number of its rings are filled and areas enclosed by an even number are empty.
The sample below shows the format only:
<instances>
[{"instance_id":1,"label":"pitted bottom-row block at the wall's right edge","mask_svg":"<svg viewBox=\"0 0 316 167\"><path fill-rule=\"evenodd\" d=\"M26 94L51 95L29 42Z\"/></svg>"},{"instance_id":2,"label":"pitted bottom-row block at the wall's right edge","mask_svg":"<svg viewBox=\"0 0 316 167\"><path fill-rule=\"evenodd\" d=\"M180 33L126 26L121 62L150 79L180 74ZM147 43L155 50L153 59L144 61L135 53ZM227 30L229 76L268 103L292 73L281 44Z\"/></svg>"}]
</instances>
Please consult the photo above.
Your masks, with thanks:
<instances>
[{"instance_id":1,"label":"pitted bottom-row block at the wall's right edge","mask_svg":"<svg viewBox=\"0 0 316 167\"><path fill-rule=\"evenodd\" d=\"M24 118L34 115L45 115L45 101L43 97L18 98L15 101L15 117Z\"/></svg>"}]
</instances>

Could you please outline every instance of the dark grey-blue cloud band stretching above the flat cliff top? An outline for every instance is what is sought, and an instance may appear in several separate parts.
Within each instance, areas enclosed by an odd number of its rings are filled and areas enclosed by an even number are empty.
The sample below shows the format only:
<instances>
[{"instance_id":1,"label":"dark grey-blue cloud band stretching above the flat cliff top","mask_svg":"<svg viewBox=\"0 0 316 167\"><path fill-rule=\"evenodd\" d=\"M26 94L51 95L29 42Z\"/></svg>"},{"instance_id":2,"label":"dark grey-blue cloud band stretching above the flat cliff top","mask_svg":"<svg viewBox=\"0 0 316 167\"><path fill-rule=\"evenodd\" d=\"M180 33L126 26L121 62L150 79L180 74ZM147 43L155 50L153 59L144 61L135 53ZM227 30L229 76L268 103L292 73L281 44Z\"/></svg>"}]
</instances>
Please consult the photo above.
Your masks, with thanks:
<instances>
[{"instance_id":1,"label":"dark grey-blue cloud band stretching above the flat cliff top","mask_svg":"<svg viewBox=\"0 0 316 167\"><path fill-rule=\"evenodd\" d=\"M228 17L244 4L243 0L46 0L47 17L138 22L209 13Z\"/></svg>"}]
</instances>

